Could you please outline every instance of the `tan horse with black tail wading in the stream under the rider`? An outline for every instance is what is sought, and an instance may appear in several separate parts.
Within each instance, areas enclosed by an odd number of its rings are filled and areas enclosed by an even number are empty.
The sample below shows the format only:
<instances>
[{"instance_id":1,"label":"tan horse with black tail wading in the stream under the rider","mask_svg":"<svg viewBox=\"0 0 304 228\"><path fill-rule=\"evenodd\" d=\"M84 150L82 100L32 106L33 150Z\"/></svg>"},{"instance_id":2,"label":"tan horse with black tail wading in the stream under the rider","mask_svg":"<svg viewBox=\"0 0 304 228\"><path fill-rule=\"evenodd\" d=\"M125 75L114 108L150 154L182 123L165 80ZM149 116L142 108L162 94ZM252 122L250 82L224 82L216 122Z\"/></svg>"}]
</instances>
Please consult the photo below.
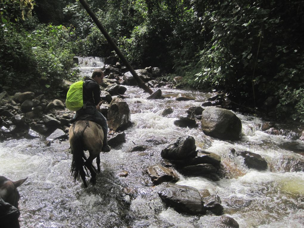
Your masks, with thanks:
<instances>
[{"instance_id":1,"label":"tan horse with black tail wading in the stream under the rider","mask_svg":"<svg viewBox=\"0 0 304 228\"><path fill-rule=\"evenodd\" d=\"M85 188L86 173L91 173L90 182L96 184L96 168L92 164L96 158L97 172L100 172L100 152L102 150L103 131L102 127L89 120L78 120L74 122L69 129L71 153L73 154L71 164L71 175L74 176L74 182L81 177ZM89 157L86 158L84 151L89 151Z\"/></svg>"}]
</instances>

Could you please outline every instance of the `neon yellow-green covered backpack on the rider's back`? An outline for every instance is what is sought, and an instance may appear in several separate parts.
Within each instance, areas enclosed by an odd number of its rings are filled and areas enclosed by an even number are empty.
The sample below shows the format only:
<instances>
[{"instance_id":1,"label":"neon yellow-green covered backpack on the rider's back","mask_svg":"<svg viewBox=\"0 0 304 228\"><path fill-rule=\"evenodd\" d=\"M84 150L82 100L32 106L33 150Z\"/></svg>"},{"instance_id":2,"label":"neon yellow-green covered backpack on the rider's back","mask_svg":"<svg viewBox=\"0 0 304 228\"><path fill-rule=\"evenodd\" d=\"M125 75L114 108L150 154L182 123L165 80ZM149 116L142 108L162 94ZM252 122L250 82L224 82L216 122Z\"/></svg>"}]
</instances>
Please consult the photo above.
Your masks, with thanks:
<instances>
[{"instance_id":1,"label":"neon yellow-green covered backpack on the rider's back","mask_svg":"<svg viewBox=\"0 0 304 228\"><path fill-rule=\"evenodd\" d=\"M71 111L77 111L83 106L82 87L83 81L76 81L70 86L67 92L65 105Z\"/></svg>"}]
</instances>

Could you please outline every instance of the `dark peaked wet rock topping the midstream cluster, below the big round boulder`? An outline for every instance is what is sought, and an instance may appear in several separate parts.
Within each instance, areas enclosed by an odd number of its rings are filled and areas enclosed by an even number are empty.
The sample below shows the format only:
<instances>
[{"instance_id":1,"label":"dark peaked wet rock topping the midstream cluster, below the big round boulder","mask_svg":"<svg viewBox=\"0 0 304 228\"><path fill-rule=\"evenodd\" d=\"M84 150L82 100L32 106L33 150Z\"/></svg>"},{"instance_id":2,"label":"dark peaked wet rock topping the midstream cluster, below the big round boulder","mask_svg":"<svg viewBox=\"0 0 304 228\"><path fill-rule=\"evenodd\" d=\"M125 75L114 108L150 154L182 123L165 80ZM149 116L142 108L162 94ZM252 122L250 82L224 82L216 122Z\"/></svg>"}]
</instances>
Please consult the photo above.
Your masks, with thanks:
<instances>
[{"instance_id":1,"label":"dark peaked wet rock topping the midstream cluster, below the big round boulder","mask_svg":"<svg viewBox=\"0 0 304 228\"><path fill-rule=\"evenodd\" d=\"M161 151L161 157L169 160L185 160L196 156L195 139L192 136L181 136Z\"/></svg>"}]
</instances>

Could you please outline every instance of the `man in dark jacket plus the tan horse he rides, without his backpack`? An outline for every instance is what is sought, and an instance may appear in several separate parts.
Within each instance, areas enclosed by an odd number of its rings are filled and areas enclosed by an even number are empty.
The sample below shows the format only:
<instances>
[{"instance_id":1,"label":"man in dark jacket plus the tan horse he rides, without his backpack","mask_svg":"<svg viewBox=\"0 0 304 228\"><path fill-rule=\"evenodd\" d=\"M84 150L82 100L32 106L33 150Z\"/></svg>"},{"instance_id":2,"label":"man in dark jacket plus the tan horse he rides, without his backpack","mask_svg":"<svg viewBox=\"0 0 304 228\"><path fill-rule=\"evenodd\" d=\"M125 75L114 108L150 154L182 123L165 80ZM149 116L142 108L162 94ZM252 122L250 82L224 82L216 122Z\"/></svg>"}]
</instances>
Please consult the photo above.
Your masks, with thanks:
<instances>
[{"instance_id":1,"label":"man in dark jacket plus the tan horse he rides, without his backpack","mask_svg":"<svg viewBox=\"0 0 304 228\"><path fill-rule=\"evenodd\" d=\"M96 69L92 77L83 83L83 107L76 111L73 124L69 129L71 153L73 154L71 174L74 181L81 178L85 187L85 170L91 174L90 182L96 183L96 171L100 172L100 152L109 152L107 135L108 125L105 117L100 113L100 88L104 73ZM84 150L88 150L89 157L85 156ZM97 170L92 165L96 158ZM88 172L87 172L88 173Z\"/></svg>"}]
</instances>

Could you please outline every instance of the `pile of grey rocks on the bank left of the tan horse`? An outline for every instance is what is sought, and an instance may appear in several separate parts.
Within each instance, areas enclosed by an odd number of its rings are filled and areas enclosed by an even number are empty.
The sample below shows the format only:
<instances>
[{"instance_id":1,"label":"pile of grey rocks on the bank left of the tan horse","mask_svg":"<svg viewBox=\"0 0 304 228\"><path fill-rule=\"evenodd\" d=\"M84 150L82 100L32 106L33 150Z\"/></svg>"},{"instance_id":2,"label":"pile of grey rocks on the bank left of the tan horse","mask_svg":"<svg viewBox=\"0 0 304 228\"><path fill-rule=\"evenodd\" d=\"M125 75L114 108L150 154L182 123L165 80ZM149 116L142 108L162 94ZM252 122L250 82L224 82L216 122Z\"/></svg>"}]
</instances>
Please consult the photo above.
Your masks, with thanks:
<instances>
[{"instance_id":1,"label":"pile of grey rocks on the bank left of the tan horse","mask_svg":"<svg viewBox=\"0 0 304 228\"><path fill-rule=\"evenodd\" d=\"M65 132L71 117L64 113L64 103L61 100L48 101L44 95L17 92L4 101L6 103L0 108L1 140L42 136L67 138ZM56 134L52 134L56 129Z\"/></svg>"}]
</instances>

